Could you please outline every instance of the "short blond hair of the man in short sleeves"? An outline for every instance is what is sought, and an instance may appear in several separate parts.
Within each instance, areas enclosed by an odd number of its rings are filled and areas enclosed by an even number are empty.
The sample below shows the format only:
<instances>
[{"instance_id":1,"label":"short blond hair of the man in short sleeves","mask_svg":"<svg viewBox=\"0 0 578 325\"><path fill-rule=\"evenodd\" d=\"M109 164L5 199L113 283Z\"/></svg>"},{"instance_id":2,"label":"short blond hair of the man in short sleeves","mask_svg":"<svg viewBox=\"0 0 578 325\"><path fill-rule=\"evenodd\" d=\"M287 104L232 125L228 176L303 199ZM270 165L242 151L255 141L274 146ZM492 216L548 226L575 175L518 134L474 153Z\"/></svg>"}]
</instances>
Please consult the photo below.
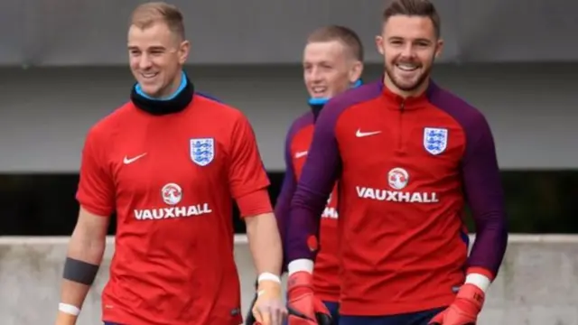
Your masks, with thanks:
<instances>
[{"instance_id":1,"label":"short blond hair of the man in short sleeves","mask_svg":"<svg viewBox=\"0 0 578 325\"><path fill-rule=\"evenodd\" d=\"M150 2L139 5L130 17L131 25L147 28L154 23L166 23L171 32L184 39L184 23L182 13L175 5L164 2Z\"/></svg>"}]
</instances>

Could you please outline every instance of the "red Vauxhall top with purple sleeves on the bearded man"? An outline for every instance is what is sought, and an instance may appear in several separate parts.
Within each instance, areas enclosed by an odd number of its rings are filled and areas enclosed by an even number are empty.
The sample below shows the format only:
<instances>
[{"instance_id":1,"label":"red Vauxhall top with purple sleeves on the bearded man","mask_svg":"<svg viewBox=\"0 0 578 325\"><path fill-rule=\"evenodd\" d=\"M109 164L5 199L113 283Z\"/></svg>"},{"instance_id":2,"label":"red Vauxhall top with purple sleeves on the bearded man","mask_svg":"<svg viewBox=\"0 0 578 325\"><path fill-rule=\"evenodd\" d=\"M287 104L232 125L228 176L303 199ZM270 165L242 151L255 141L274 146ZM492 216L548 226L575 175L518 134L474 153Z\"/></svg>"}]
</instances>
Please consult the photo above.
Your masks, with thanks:
<instances>
[{"instance_id":1,"label":"red Vauxhall top with purple sleeves on the bearded man","mask_svg":"<svg viewBox=\"0 0 578 325\"><path fill-rule=\"evenodd\" d=\"M489 125L433 82L401 98L379 81L323 108L291 203L288 261L313 258L308 238L335 181L340 313L446 306L467 272L498 273L508 232ZM477 232L470 256L466 202Z\"/></svg>"}]
</instances>

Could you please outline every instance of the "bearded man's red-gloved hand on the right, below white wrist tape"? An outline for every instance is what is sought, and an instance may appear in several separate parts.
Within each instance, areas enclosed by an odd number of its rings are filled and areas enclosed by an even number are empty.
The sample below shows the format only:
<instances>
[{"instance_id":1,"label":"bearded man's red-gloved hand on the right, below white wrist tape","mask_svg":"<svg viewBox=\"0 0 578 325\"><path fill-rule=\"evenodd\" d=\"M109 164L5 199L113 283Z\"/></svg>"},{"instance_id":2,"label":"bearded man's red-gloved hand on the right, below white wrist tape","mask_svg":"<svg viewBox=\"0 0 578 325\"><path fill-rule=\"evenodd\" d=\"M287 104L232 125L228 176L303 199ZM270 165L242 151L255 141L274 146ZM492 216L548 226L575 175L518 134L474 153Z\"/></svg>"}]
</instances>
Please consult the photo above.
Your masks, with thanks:
<instances>
[{"instance_id":1,"label":"bearded man's red-gloved hand on the right, below white wrist tape","mask_svg":"<svg viewBox=\"0 0 578 325\"><path fill-rule=\"evenodd\" d=\"M484 300L485 294L479 287L465 283L450 307L433 317L429 325L474 325Z\"/></svg>"}]
</instances>

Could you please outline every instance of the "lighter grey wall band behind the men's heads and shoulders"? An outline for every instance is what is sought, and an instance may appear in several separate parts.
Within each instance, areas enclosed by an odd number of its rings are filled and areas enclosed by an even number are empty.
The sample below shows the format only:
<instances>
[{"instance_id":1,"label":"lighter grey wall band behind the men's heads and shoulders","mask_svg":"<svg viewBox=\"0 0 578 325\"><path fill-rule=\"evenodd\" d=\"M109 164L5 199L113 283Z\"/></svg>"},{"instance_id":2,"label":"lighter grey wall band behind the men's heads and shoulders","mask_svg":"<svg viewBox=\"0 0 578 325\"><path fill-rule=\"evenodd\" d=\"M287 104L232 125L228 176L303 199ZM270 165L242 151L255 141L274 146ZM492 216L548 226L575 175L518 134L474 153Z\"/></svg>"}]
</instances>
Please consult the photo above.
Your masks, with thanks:
<instances>
[{"instance_id":1,"label":"lighter grey wall band behind the men's heads and shoulders","mask_svg":"<svg viewBox=\"0 0 578 325\"><path fill-rule=\"evenodd\" d=\"M298 66L191 67L198 88L242 109L266 168L283 171L305 106ZM366 80L381 73L369 67ZM489 119L503 169L578 168L578 63L438 66L444 87ZM126 68L0 69L0 172L76 172L89 126L126 101Z\"/></svg>"}]
</instances>

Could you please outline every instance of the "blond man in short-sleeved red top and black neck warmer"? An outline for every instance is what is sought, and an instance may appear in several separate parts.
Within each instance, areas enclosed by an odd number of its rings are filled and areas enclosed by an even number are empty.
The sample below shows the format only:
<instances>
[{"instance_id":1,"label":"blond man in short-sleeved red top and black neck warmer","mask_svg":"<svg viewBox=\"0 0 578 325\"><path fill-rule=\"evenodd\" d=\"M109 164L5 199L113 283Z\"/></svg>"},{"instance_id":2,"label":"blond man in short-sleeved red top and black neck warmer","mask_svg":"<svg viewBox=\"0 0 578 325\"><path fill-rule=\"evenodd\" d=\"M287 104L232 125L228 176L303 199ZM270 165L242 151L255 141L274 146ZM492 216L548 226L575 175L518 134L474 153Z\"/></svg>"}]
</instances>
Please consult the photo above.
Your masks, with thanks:
<instances>
[{"instance_id":1,"label":"blond man in short-sleeved red top and black neck warmer","mask_svg":"<svg viewBox=\"0 0 578 325\"><path fill-rule=\"evenodd\" d=\"M135 9L128 52L137 83L131 100L94 125L84 145L57 325L77 322L113 211L105 324L240 324L231 198L247 222L259 272L256 320L284 319L281 239L255 135L240 111L195 92L182 72L189 49L176 7Z\"/></svg>"}]
</instances>

